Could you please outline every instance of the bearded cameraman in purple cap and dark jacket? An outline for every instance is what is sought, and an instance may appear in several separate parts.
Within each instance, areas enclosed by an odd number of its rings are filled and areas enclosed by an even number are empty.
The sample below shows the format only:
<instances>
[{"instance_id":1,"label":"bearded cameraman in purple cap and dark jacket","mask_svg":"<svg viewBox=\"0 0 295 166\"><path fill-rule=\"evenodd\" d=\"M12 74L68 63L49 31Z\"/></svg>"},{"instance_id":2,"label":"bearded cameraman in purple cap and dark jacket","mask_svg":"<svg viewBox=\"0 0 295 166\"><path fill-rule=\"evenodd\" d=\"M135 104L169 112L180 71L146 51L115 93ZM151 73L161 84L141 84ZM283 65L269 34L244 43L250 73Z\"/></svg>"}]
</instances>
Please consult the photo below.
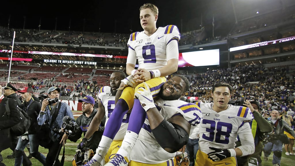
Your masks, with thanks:
<instances>
[{"instance_id":1,"label":"bearded cameraman in purple cap and dark jacket","mask_svg":"<svg viewBox=\"0 0 295 166\"><path fill-rule=\"evenodd\" d=\"M85 136L90 122L97 113L97 109L94 108L95 101L93 97L85 96L83 97L83 99L78 100L78 102L82 102L83 114L80 115L76 120L76 124L78 125L78 127L77 130L75 130L75 136L73 136L74 140L78 140L79 138L81 138L82 133ZM106 116L104 116L104 118L102 119L99 130L95 131L94 134L88 139L88 141L86 141L85 147L92 149L94 153L96 152L96 148L98 147L102 134L104 132L105 122Z\"/></svg>"}]
</instances>

